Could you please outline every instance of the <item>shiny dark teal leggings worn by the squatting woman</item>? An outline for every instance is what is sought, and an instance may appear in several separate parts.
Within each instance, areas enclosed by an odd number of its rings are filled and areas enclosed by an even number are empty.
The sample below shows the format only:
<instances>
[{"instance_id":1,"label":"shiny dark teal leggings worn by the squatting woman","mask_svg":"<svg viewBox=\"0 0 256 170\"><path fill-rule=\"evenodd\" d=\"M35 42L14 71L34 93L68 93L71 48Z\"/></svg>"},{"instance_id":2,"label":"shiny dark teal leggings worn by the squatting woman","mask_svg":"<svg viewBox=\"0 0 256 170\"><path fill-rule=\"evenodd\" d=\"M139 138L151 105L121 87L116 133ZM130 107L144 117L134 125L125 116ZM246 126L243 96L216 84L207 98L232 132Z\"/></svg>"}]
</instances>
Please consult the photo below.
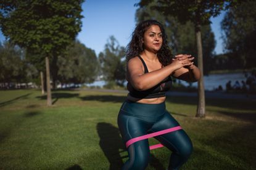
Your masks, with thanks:
<instances>
[{"instance_id":1,"label":"shiny dark teal leggings worn by the squatting woman","mask_svg":"<svg viewBox=\"0 0 256 170\"><path fill-rule=\"evenodd\" d=\"M134 137L175 126L180 125L165 109L165 102L141 104L125 101L118 114L118 127L125 143ZM172 152L168 169L179 169L192 153L192 142L183 129L155 136L155 139ZM131 144L128 155L122 169L145 169L150 156L148 139Z\"/></svg>"}]
</instances>

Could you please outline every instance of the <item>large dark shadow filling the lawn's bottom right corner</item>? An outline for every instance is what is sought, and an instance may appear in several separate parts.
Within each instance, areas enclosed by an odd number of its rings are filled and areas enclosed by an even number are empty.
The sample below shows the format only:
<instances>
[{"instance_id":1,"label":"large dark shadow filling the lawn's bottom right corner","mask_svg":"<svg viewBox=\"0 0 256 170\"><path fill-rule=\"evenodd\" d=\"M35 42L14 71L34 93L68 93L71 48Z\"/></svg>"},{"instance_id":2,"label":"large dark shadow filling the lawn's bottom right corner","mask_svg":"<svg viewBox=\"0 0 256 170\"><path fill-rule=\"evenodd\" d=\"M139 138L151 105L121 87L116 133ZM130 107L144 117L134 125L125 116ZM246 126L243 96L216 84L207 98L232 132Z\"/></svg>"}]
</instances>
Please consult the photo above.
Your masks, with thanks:
<instances>
[{"instance_id":1,"label":"large dark shadow filling the lawn's bottom right corner","mask_svg":"<svg viewBox=\"0 0 256 170\"><path fill-rule=\"evenodd\" d=\"M255 169L255 125L238 126L228 133L199 139L192 162L198 169Z\"/></svg>"}]
</instances>

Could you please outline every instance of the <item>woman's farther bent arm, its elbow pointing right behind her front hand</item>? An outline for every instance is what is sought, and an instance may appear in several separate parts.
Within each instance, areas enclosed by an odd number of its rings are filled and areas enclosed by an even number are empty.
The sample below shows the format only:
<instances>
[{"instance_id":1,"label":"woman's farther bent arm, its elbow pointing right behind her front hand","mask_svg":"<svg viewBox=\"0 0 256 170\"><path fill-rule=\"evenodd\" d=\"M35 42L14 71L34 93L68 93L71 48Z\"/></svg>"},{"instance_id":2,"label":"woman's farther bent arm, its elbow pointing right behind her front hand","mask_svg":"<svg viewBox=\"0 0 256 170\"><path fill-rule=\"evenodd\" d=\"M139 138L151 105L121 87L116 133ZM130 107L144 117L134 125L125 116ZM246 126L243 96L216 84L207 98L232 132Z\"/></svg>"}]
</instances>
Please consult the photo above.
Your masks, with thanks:
<instances>
[{"instance_id":1,"label":"woman's farther bent arm, its elbow pointing right behind her front hand","mask_svg":"<svg viewBox=\"0 0 256 170\"><path fill-rule=\"evenodd\" d=\"M183 55L180 57L190 57L190 56ZM180 68L176 70L173 73L173 77L176 77L177 79L180 79L180 80L185 80L187 82L197 82L201 77L201 73L199 68L197 68L197 66L195 66L194 64L191 64L186 68Z\"/></svg>"}]
</instances>

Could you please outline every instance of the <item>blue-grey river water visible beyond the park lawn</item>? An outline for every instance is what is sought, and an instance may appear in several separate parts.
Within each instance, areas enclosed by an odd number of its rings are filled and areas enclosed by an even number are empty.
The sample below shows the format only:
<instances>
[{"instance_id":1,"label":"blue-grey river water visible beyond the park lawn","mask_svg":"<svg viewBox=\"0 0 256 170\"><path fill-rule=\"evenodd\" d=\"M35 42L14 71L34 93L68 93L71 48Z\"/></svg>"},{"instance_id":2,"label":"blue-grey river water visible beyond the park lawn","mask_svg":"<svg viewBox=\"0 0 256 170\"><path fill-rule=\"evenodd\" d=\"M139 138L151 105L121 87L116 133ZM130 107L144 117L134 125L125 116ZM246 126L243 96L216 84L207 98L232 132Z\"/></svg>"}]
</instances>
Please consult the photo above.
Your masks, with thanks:
<instances>
[{"instance_id":1,"label":"blue-grey river water visible beyond the park lawn","mask_svg":"<svg viewBox=\"0 0 256 170\"><path fill-rule=\"evenodd\" d=\"M238 81L240 85L242 85L241 81L244 80L246 82L246 77L242 72L204 75L204 88L205 90L215 90L216 88L218 88L219 85L221 85L223 90L226 90L226 83L229 80L231 80L231 86L233 86L236 81ZM185 86L189 86L188 82L180 80L180 83ZM103 87L105 85L105 82L101 80L87 85ZM197 87L197 82L192 83L192 87Z\"/></svg>"}]
</instances>

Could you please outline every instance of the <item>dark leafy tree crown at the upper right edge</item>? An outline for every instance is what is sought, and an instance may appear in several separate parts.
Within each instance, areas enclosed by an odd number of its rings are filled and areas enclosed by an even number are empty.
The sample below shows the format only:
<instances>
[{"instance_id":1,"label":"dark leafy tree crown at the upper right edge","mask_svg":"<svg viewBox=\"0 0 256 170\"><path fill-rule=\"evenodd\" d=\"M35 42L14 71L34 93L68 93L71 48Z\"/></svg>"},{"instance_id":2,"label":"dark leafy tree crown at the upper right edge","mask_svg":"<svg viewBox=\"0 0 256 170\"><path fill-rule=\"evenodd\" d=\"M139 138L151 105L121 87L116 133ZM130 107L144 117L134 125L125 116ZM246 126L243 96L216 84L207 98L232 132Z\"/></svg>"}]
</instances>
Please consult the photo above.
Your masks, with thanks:
<instances>
[{"instance_id":1,"label":"dark leafy tree crown at the upper right edge","mask_svg":"<svg viewBox=\"0 0 256 170\"><path fill-rule=\"evenodd\" d=\"M244 69L256 67L256 2L241 1L226 12L221 28L226 52Z\"/></svg>"}]
</instances>

